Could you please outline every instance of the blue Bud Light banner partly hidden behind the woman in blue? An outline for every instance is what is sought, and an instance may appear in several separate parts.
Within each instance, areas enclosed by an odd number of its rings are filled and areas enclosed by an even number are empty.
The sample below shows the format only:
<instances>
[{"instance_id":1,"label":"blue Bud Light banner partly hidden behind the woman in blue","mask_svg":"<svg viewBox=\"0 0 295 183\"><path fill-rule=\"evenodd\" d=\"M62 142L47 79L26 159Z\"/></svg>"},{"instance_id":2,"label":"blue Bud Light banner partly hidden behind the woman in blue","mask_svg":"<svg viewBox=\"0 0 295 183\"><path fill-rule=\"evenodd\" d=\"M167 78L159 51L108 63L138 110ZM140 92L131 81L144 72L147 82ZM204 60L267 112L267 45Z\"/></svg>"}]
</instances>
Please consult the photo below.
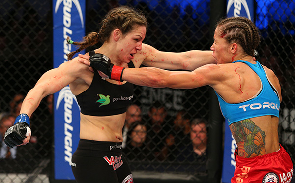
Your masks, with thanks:
<instances>
[{"instance_id":1,"label":"blue Bud Light banner partly hidden behind the woman in blue","mask_svg":"<svg viewBox=\"0 0 295 183\"><path fill-rule=\"evenodd\" d=\"M247 17L254 20L254 0L227 0L226 13L228 17ZM222 182L231 183L235 172L236 141L226 122L224 134L224 152L222 167Z\"/></svg>"}]
</instances>

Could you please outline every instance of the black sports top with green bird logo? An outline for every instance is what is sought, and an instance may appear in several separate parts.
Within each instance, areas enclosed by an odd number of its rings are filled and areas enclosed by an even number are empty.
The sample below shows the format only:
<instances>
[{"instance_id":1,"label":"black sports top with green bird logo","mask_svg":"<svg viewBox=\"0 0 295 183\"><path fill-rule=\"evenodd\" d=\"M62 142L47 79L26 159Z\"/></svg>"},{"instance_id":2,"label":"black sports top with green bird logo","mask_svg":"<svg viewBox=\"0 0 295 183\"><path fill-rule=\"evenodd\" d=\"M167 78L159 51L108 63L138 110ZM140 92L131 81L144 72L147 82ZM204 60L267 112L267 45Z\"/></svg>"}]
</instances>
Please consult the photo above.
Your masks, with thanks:
<instances>
[{"instance_id":1,"label":"black sports top with green bird logo","mask_svg":"<svg viewBox=\"0 0 295 183\"><path fill-rule=\"evenodd\" d=\"M90 55L94 51L89 52ZM129 68L134 68L132 61ZM84 115L110 116L126 112L133 98L133 84L125 83L116 85L101 79L97 70L94 69L93 80L89 88L76 96L80 111Z\"/></svg>"}]
</instances>

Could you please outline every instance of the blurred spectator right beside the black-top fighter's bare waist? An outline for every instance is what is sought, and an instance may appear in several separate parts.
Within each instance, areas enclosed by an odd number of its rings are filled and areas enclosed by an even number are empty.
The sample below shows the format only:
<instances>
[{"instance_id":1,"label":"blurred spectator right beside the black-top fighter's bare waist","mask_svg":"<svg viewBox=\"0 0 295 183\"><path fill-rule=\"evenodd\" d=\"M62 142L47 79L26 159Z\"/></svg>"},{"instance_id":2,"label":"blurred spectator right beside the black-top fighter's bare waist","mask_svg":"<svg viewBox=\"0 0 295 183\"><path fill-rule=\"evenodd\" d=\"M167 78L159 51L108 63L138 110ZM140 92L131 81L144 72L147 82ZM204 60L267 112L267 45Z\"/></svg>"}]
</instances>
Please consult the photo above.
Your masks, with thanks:
<instances>
[{"instance_id":1,"label":"blurred spectator right beside the black-top fighter's bare waist","mask_svg":"<svg viewBox=\"0 0 295 183\"><path fill-rule=\"evenodd\" d=\"M132 104L129 107L127 107L127 110L126 110L126 119L125 119L125 124L122 130L123 131L122 132L123 133L122 148L126 147L127 133L130 129L130 126L135 121L142 121L142 112L138 105Z\"/></svg>"}]
</instances>

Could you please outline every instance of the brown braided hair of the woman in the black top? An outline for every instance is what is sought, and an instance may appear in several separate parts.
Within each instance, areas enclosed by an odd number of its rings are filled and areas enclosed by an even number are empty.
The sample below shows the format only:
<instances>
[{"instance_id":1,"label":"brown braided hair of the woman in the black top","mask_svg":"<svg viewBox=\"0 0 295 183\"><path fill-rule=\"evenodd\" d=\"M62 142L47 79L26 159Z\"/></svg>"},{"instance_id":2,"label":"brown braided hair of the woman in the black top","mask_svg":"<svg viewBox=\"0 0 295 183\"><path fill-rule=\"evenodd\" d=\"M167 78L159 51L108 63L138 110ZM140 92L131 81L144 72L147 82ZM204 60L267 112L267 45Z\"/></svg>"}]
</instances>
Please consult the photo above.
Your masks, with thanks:
<instances>
[{"instance_id":1,"label":"brown braided hair of the woman in the black top","mask_svg":"<svg viewBox=\"0 0 295 183\"><path fill-rule=\"evenodd\" d=\"M66 38L69 44L78 46L76 51L67 53L68 60L71 60L76 53L97 44L100 40L103 42L108 41L113 30L118 28L123 35L126 35L132 31L135 26L148 27L148 20L140 10L129 6L111 9L102 20L99 33L90 32L87 36L83 37L81 42L71 41L70 37Z\"/></svg>"}]
</instances>

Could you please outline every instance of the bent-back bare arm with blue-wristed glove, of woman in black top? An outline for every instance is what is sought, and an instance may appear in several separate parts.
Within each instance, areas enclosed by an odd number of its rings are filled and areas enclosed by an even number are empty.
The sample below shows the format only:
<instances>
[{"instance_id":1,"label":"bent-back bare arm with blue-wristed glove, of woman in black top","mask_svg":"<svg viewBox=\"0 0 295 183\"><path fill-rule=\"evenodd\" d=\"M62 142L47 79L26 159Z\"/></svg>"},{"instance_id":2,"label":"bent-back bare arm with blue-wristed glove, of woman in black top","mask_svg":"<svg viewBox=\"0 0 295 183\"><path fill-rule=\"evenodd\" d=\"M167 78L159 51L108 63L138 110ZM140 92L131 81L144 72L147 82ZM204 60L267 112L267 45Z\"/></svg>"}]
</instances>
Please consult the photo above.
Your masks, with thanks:
<instances>
[{"instance_id":1,"label":"bent-back bare arm with blue-wristed glove, of woman in black top","mask_svg":"<svg viewBox=\"0 0 295 183\"><path fill-rule=\"evenodd\" d=\"M29 117L39 106L41 100L52 93L61 90L69 83L76 80L81 74L79 68L88 66L79 61L69 61L61 64L58 68L47 71L32 88L21 106L20 115L16 118L14 125L8 128L4 135L4 142L9 147L25 145L29 143L31 132L29 128Z\"/></svg>"}]
</instances>

